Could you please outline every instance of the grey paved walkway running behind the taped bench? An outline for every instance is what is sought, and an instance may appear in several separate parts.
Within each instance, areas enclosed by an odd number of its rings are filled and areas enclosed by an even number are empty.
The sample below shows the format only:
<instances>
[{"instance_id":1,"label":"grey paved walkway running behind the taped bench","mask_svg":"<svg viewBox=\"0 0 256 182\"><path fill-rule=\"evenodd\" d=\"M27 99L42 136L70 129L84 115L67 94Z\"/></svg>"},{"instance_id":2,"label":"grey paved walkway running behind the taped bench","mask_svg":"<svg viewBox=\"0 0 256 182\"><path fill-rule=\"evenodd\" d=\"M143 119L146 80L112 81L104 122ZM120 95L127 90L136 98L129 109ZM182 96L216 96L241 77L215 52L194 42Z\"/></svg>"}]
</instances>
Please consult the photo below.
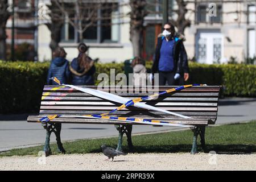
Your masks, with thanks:
<instances>
[{"instance_id":1,"label":"grey paved walkway running behind the taped bench","mask_svg":"<svg viewBox=\"0 0 256 182\"><path fill-rule=\"evenodd\" d=\"M220 100L216 124L236 123L256 119L256 98L225 98ZM40 123L27 123L27 114L0 115L0 151L11 148L28 147L44 143L46 131ZM166 130L179 130L179 127L134 126L134 133L148 133ZM61 130L63 141L117 137L113 125L79 125L65 124ZM54 134L51 141L55 142Z\"/></svg>"}]
</instances>

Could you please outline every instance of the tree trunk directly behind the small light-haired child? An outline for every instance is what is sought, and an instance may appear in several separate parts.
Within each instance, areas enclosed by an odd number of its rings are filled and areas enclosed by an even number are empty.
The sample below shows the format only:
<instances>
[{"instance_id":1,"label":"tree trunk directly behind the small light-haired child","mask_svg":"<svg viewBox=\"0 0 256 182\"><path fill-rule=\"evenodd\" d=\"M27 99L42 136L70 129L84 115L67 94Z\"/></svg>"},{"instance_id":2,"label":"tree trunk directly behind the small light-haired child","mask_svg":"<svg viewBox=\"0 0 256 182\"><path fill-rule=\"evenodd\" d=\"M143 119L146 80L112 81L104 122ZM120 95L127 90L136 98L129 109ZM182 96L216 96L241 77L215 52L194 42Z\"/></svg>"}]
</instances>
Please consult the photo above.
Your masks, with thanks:
<instances>
[{"instance_id":1,"label":"tree trunk directly behind the small light-haired child","mask_svg":"<svg viewBox=\"0 0 256 182\"><path fill-rule=\"evenodd\" d=\"M145 0L130 0L130 41L133 44L134 56L141 56L142 54L143 22L144 16L147 15L145 6Z\"/></svg>"}]
</instances>

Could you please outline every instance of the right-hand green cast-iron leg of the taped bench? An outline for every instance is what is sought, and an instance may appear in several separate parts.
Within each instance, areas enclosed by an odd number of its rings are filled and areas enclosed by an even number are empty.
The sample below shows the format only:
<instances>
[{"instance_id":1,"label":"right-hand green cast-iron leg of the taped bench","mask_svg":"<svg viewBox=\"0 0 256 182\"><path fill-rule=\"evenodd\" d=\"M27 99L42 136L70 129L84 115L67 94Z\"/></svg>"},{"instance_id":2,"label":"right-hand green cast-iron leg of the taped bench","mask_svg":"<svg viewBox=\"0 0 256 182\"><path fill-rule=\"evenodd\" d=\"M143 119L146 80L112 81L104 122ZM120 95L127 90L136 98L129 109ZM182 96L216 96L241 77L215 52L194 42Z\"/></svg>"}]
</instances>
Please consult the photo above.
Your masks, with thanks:
<instances>
[{"instance_id":1,"label":"right-hand green cast-iron leg of the taped bench","mask_svg":"<svg viewBox=\"0 0 256 182\"><path fill-rule=\"evenodd\" d=\"M205 126L196 126L193 131L193 144L192 144L192 149L191 149L191 154L196 154L197 153L197 136L200 135L201 139L201 147L203 150L205 149L205 139L204 139L204 134L205 134Z\"/></svg>"}]
</instances>

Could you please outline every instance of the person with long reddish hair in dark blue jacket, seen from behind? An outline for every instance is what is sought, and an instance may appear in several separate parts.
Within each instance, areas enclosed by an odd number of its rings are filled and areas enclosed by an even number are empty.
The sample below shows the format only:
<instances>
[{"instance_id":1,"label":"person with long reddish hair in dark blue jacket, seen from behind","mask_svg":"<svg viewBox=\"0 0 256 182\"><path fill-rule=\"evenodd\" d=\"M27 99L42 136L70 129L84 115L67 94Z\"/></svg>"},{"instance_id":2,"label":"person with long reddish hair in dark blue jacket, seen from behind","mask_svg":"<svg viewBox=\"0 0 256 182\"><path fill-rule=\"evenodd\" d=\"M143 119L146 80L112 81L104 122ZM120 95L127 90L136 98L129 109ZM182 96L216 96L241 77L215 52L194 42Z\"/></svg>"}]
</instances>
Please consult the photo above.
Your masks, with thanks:
<instances>
[{"instance_id":1,"label":"person with long reddish hair in dark blue jacket, seen from behind","mask_svg":"<svg viewBox=\"0 0 256 182\"><path fill-rule=\"evenodd\" d=\"M88 47L84 43L79 44L79 56L74 58L69 66L73 85L94 85L94 73L96 68L94 61L86 55Z\"/></svg>"}]
</instances>

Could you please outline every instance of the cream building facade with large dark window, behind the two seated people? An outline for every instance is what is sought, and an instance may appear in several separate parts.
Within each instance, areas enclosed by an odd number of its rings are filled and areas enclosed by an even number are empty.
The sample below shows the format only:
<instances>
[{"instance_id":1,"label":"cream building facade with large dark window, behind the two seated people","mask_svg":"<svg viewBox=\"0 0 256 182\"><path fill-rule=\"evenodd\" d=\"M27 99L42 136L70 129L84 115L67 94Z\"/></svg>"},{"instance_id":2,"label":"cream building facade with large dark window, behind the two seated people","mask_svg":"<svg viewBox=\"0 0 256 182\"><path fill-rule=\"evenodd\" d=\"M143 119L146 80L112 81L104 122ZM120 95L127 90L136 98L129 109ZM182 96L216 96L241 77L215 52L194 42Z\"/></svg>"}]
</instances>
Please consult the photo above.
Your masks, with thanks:
<instances>
[{"instance_id":1,"label":"cream building facade with large dark window, behind the two seated people","mask_svg":"<svg viewBox=\"0 0 256 182\"><path fill-rule=\"evenodd\" d=\"M42 1L41 1L42 2ZM83 34L83 42L89 46L88 54L92 59L99 59L101 62L120 62L130 59L133 56L133 49L130 42L129 27L130 18L127 15L130 11L127 2L113 0L108 1L110 4L116 4L116 9L111 9L107 12L111 19L99 20L97 26L92 26L86 29ZM43 1L49 3L49 1ZM105 9L102 8L102 11ZM99 16L105 12L100 12ZM38 27L38 56L39 60L50 60L51 49L51 32L44 24L45 20L41 18ZM78 51L78 32L66 21L61 30L61 42L59 46L64 47L67 52L67 59L72 60L77 57Z\"/></svg>"}]
</instances>

